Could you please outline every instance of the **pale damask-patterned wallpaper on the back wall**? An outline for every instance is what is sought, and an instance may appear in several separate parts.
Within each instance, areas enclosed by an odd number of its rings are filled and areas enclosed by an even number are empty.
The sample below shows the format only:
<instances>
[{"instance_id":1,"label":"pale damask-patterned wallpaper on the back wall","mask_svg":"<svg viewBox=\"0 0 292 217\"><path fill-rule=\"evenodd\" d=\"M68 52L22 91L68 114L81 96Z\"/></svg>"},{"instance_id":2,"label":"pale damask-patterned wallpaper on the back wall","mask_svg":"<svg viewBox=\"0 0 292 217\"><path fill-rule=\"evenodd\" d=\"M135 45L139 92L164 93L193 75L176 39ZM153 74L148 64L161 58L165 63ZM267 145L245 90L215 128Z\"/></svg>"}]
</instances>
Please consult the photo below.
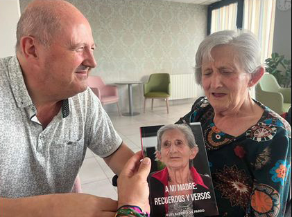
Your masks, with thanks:
<instances>
[{"instance_id":1,"label":"pale damask-patterned wallpaper on the back wall","mask_svg":"<svg viewBox=\"0 0 292 217\"><path fill-rule=\"evenodd\" d=\"M29 1L19 0L22 11ZM207 32L207 6L160 0L68 1L92 26L98 63L92 74L106 83L146 82L151 73L193 73L196 50ZM141 108L142 85L134 91L135 108ZM127 86L119 86L123 111L128 109L127 94Z\"/></svg>"}]
</instances>

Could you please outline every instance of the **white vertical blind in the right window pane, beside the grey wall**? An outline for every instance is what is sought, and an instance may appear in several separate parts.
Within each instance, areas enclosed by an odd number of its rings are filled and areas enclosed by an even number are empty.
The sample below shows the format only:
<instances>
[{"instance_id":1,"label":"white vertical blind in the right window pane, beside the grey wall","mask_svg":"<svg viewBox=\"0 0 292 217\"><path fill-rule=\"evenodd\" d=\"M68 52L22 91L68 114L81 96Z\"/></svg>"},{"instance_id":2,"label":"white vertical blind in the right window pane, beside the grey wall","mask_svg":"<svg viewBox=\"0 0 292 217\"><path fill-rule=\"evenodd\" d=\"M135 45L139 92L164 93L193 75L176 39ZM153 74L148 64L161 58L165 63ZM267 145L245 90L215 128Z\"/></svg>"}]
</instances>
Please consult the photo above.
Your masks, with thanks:
<instances>
[{"instance_id":1,"label":"white vertical blind in the right window pane, beside the grey wall","mask_svg":"<svg viewBox=\"0 0 292 217\"><path fill-rule=\"evenodd\" d=\"M276 0L245 0L243 28L257 35L261 44L261 61L271 56L275 25Z\"/></svg>"}]
</instances>

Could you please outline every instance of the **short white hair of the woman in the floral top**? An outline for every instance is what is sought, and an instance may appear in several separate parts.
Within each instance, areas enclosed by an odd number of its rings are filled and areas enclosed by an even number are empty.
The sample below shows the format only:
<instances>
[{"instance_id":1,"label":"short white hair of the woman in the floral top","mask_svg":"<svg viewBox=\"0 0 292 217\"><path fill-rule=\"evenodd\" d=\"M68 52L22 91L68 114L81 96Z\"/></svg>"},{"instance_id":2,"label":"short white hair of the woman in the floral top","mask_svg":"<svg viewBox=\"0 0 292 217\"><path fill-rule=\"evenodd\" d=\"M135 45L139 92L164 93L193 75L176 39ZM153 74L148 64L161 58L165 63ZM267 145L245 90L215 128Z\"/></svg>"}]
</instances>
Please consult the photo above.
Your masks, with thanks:
<instances>
[{"instance_id":1,"label":"short white hair of the woman in the floral top","mask_svg":"<svg viewBox=\"0 0 292 217\"><path fill-rule=\"evenodd\" d=\"M261 48L252 32L247 30L224 30L207 36L198 47L196 53L195 76L197 84L202 84L202 64L212 61L211 51L216 46L230 45L237 52L246 73L253 74L261 67Z\"/></svg>"}]
</instances>

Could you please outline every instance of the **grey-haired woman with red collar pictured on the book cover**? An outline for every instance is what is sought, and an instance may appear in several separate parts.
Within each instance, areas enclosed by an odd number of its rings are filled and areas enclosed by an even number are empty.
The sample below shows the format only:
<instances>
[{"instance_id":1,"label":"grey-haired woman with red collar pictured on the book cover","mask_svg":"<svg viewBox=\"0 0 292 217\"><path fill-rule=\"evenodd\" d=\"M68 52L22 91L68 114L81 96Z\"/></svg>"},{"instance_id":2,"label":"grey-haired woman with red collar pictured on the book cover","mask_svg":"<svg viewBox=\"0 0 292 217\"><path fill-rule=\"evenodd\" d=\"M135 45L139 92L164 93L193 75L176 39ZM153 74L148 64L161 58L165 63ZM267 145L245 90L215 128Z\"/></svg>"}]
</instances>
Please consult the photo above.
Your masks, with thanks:
<instances>
[{"instance_id":1,"label":"grey-haired woman with red collar pictured on the book cover","mask_svg":"<svg viewBox=\"0 0 292 217\"><path fill-rule=\"evenodd\" d=\"M217 214L212 180L200 175L191 161L198 153L194 134L187 124L169 124L157 131L158 160L162 171L151 173L151 216L212 216ZM194 198L200 194L199 199ZM194 210L198 211L198 213ZM181 212L182 214L175 214Z\"/></svg>"}]
</instances>

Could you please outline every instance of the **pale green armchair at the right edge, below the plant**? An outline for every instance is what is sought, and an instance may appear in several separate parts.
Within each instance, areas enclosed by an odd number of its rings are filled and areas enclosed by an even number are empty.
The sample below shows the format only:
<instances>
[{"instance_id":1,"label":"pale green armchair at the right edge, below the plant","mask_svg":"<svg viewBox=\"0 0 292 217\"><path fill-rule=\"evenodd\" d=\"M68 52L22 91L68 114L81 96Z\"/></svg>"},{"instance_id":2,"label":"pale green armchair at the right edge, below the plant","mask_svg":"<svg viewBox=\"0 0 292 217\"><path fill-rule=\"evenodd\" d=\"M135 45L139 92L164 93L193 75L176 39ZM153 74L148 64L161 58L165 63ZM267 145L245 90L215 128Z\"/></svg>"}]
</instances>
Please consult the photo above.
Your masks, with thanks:
<instances>
[{"instance_id":1,"label":"pale green armchair at the right edge, below the plant","mask_svg":"<svg viewBox=\"0 0 292 217\"><path fill-rule=\"evenodd\" d=\"M291 106L291 88L282 88L277 79L269 73L265 73L255 87L256 99L270 109L282 115Z\"/></svg>"}]
</instances>

